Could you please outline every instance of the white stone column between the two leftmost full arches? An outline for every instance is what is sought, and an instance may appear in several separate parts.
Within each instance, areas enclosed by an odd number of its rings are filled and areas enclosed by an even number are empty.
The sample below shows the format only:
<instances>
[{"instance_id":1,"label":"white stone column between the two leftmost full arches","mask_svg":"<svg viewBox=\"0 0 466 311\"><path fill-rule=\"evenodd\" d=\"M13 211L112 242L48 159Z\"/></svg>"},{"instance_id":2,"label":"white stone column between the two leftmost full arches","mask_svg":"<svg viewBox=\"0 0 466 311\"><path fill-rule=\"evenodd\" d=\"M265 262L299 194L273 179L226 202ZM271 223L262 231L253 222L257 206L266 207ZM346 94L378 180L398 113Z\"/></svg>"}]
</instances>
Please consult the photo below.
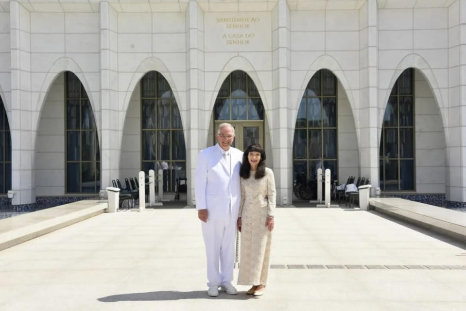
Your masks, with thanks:
<instances>
[{"instance_id":1,"label":"white stone column between the two leftmost full arches","mask_svg":"<svg viewBox=\"0 0 466 311\"><path fill-rule=\"evenodd\" d=\"M108 2L100 3L101 53L101 189L111 186L120 172L121 139L124 111L118 101L117 12ZM99 129L98 129L99 130Z\"/></svg>"}]
</instances>

